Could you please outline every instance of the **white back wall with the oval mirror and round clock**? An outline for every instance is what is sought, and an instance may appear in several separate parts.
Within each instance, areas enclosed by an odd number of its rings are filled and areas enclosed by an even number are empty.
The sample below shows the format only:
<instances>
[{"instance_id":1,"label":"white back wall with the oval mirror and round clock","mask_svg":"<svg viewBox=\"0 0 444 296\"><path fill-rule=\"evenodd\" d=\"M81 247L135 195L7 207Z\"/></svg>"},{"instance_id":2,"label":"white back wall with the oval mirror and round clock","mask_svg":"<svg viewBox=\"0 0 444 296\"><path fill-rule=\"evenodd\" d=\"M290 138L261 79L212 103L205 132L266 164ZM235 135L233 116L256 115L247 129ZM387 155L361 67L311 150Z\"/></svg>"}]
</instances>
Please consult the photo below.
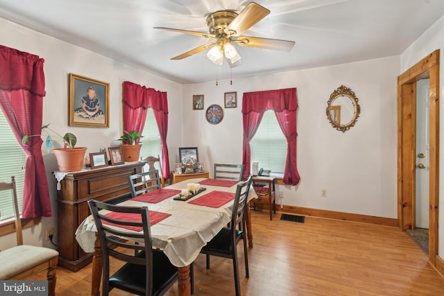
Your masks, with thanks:
<instances>
[{"instance_id":1,"label":"white back wall with the oval mirror and round clock","mask_svg":"<svg viewBox=\"0 0 444 296\"><path fill-rule=\"evenodd\" d=\"M396 218L396 78L399 57L251 78L184 85L184 144L198 146L212 171L214 162L241 163L244 92L296 87L298 94L298 186L278 186L283 204ZM330 94L345 85L355 92L361 115L347 132L335 130L325 110ZM223 93L237 92L238 107L224 109L211 125L205 110L223 106ZM203 94L204 110L192 110ZM260 164L259 164L260 166ZM321 190L327 190L327 198Z\"/></svg>"}]
</instances>

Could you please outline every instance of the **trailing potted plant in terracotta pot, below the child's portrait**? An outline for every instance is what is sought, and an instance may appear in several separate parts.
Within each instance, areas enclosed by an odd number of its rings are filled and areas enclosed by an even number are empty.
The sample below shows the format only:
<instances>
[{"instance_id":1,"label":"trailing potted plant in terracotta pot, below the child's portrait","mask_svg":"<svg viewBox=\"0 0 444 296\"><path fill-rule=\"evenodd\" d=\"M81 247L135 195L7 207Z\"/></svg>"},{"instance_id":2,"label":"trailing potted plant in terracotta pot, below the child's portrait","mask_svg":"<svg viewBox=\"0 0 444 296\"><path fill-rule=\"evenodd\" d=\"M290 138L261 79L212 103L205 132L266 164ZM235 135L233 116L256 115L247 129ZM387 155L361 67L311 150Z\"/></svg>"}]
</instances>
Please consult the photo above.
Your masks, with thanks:
<instances>
[{"instance_id":1,"label":"trailing potted plant in terracotta pot, below the child's portrait","mask_svg":"<svg viewBox=\"0 0 444 296\"><path fill-rule=\"evenodd\" d=\"M42 131L45 131L48 135L46 136L45 145L48 151L51 151L53 147L53 138L51 137L52 132L56 134L64 143L64 148L53 148L53 153L56 155L58 170L62 173L67 172L77 172L83 168L83 160L87 148L76 148L77 137L71 132L67 132L64 136L58 134L54 130L49 128L49 124L42 126ZM41 134L28 136L25 134L22 138L22 143L26 145L29 137L41 136Z\"/></svg>"}]
</instances>

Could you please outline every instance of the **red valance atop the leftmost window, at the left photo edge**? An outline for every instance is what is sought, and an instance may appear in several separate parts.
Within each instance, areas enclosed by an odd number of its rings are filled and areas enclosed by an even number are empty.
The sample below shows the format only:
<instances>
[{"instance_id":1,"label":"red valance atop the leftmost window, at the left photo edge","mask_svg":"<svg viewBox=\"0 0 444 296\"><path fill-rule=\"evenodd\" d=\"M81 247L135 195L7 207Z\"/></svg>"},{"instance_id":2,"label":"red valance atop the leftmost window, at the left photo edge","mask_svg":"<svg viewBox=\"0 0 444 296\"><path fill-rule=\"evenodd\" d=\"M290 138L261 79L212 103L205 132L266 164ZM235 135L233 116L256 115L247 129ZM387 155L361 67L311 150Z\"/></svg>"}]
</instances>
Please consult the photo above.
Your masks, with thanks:
<instances>
[{"instance_id":1,"label":"red valance atop the leftmost window, at the left photo edge","mask_svg":"<svg viewBox=\"0 0 444 296\"><path fill-rule=\"evenodd\" d=\"M44 96L44 59L0 45L0 89L25 89Z\"/></svg>"}]
</instances>

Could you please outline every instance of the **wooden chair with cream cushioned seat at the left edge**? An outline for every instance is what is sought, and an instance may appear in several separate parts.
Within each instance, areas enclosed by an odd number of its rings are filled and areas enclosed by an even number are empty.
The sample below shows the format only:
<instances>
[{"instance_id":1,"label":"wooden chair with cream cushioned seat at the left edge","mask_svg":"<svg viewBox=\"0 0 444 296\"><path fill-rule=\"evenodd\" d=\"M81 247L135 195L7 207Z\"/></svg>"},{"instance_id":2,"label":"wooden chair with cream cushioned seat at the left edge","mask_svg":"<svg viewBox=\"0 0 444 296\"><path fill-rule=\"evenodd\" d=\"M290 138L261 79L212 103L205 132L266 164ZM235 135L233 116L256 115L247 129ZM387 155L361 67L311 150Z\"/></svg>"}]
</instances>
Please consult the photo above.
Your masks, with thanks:
<instances>
[{"instance_id":1,"label":"wooden chair with cream cushioned seat at the left edge","mask_svg":"<svg viewBox=\"0 0 444 296\"><path fill-rule=\"evenodd\" d=\"M0 252L0 279L21 280L47 270L48 295L55 295L58 252L49 247L23 244L22 221L14 176L11 177L11 182L0 182L0 191L11 192L17 234L17 246Z\"/></svg>"}]
</instances>

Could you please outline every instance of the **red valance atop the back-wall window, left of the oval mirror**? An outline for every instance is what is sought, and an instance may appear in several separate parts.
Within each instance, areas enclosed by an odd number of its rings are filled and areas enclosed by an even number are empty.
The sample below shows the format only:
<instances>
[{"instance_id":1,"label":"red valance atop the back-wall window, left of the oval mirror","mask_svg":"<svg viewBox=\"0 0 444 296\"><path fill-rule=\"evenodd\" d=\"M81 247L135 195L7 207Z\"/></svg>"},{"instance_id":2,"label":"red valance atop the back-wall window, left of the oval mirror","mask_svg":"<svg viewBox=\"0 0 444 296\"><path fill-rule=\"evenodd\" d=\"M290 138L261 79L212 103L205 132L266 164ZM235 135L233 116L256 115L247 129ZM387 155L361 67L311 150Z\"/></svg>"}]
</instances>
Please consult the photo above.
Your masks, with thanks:
<instances>
[{"instance_id":1,"label":"red valance atop the back-wall window, left of the oval mirror","mask_svg":"<svg viewBox=\"0 0 444 296\"><path fill-rule=\"evenodd\" d=\"M247 114L252 111L263 113L270 109L275 112L296 111L298 109L296 88L244 92L242 113Z\"/></svg>"}]
</instances>

